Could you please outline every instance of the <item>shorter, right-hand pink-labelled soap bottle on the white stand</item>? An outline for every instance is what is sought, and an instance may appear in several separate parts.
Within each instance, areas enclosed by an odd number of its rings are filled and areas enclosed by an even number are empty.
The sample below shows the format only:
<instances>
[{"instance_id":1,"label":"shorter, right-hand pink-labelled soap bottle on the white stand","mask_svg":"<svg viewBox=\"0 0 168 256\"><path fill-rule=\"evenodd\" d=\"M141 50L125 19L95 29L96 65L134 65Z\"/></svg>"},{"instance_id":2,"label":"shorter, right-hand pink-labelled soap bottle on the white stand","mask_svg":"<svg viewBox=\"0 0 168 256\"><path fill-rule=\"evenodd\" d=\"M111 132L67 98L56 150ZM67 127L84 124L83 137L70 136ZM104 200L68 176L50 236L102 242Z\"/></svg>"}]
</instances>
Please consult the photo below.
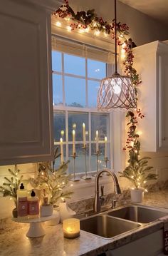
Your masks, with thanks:
<instances>
[{"instance_id":1,"label":"shorter, right-hand pink-labelled soap bottle on the white stand","mask_svg":"<svg viewBox=\"0 0 168 256\"><path fill-rule=\"evenodd\" d=\"M39 216L39 200L36 193L32 190L31 196L28 197L28 218Z\"/></svg>"}]
</instances>

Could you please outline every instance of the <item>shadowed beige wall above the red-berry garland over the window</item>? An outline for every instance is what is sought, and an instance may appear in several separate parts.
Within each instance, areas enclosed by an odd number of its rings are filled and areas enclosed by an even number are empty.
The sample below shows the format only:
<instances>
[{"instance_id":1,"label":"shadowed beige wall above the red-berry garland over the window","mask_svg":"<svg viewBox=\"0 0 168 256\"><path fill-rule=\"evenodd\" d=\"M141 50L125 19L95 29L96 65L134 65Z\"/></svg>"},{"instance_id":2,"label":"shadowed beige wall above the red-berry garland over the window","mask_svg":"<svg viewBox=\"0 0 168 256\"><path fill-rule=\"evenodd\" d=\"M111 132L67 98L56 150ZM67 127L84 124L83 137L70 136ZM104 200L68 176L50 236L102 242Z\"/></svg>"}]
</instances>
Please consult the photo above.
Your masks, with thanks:
<instances>
[{"instance_id":1,"label":"shadowed beige wall above the red-berry garland over the window","mask_svg":"<svg viewBox=\"0 0 168 256\"><path fill-rule=\"evenodd\" d=\"M70 6L74 10L95 9L98 16L103 17L105 21L114 19L114 2L112 0L69 0ZM122 4L117 0L117 21L126 23L130 28L130 37L140 46L151 41L163 41L168 38L167 26L159 24L140 11Z\"/></svg>"}]
</instances>

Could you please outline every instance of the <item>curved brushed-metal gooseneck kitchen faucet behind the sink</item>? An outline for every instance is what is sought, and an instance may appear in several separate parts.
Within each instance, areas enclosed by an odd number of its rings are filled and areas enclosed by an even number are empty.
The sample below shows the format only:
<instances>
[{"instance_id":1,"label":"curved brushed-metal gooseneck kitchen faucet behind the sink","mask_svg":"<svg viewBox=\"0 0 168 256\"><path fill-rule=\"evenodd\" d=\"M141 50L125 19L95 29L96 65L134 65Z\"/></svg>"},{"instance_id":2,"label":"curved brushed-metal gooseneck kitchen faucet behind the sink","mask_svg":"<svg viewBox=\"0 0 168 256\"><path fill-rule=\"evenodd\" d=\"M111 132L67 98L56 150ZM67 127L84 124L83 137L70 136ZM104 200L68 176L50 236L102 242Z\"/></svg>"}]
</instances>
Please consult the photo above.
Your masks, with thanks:
<instances>
[{"instance_id":1,"label":"curved brushed-metal gooseneck kitchen faucet behind the sink","mask_svg":"<svg viewBox=\"0 0 168 256\"><path fill-rule=\"evenodd\" d=\"M99 197L99 178L102 173L108 173L114 182L114 188L115 188L115 194L121 194L120 185L117 180L117 176L112 171L105 169L100 170L98 174L95 176L95 200L93 205L93 210L95 213L100 213L101 210L101 203L100 203L100 197Z\"/></svg>"}]
</instances>

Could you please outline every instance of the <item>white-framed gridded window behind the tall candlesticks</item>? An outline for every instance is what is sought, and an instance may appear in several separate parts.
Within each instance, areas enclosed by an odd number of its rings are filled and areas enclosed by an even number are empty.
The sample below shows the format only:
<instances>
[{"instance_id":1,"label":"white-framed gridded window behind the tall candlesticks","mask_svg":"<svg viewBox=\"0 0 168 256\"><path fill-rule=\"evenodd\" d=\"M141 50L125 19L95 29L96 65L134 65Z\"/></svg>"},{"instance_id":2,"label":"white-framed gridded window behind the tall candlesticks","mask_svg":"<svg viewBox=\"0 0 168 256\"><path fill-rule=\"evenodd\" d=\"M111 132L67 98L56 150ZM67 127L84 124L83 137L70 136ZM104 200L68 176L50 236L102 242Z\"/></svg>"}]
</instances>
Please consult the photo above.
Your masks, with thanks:
<instances>
[{"instance_id":1,"label":"white-framed gridded window behind the tall candlesticks","mask_svg":"<svg viewBox=\"0 0 168 256\"><path fill-rule=\"evenodd\" d=\"M85 173L83 150L83 123L87 142L87 170L97 169L95 135L99 137L99 169L105 167L105 136L107 157L110 158L109 113L96 109L100 80L106 76L106 63L72 54L52 51L54 144L60 147L63 138L64 159L70 159L69 172L73 173L73 135L75 130L75 172ZM107 163L110 167L110 161Z\"/></svg>"}]
</instances>

